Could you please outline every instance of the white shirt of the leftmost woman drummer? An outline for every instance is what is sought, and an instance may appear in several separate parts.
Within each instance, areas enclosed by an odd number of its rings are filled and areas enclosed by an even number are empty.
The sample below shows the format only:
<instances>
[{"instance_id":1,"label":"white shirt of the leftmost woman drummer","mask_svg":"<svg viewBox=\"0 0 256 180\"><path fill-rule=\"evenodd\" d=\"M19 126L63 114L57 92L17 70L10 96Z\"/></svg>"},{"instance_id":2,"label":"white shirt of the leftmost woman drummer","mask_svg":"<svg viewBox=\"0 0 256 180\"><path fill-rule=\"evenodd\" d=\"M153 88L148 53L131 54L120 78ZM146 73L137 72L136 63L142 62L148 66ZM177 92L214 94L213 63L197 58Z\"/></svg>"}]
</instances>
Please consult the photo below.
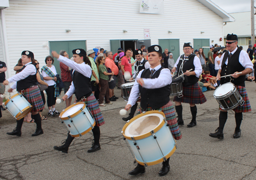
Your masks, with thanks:
<instances>
[{"instance_id":1,"label":"white shirt of the leftmost woman drummer","mask_svg":"<svg viewBox=\"0 0 256 180\"><path fill-rule=\"evenodd\" d=\"M20 81L20 80L24 80L29 75L35 75L36 74L36 68L31 63L32 62L29 62L29 63L25 64L25 66L26 66L25 69L23 69L21 72L15 74L11 78L9 78L7 81L9 81L9 83L13 83L13 82L17 82L17 81ZM16 89L16 87L17 87L17 83L14 83L11 86L12 89Z\"/></svg>"}]
</instances>

